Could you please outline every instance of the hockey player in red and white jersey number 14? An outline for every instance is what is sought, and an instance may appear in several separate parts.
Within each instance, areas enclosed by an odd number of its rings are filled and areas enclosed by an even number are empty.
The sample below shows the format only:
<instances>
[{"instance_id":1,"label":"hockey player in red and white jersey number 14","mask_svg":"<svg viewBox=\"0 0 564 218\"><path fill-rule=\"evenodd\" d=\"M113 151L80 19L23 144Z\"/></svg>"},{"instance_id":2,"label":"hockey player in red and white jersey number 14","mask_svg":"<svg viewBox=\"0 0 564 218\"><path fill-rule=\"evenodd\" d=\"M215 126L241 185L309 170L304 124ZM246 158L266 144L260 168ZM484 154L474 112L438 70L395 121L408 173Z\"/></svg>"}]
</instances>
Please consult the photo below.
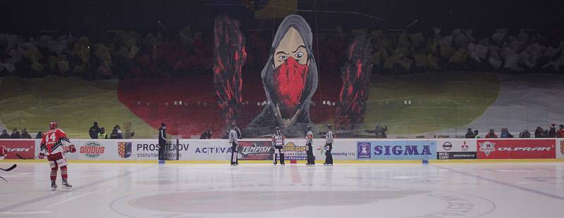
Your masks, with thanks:
<instances>
[{"instance_id":1,"label":"hockey player in red and white jersey number 14","mask_svg":"<svg viewBox=\"0 0 564 218\"><path fill-rule=\"evenodd\" d=\"M56 190L57 185L57 169L61 167L61 178L63 179L63 188L71 189L73 186L68 184L67 162L63 155L63 146L68 146L68 151L76 152L75 146L68 140L65 132L57 127L56 122L49 124L49 131L43 135L41 140L41 150L39 150L39 159L43 159L47 153L47 161L51 167L51 188Z\"/></svg>"}]
</instances>

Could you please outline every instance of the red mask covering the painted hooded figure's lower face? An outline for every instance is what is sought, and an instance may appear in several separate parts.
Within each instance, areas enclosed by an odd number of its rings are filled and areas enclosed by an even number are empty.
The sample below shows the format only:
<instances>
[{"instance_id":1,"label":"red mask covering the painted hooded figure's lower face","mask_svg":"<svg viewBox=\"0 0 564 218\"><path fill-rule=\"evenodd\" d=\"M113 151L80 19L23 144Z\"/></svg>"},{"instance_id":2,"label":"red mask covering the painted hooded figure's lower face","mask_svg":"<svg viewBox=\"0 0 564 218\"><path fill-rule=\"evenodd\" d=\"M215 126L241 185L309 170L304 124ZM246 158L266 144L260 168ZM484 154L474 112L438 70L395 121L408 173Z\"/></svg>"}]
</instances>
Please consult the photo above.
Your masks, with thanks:
<instances>
[{"instance_id":1,"label":"red mask covering the painted hooded figure's lower face","mask_svg":"<svg viewBox=\"0 0 564 218\"><path fill-rule=\"evenodd\" d=\"M292 117L298 110L308 70L307 65L300 65L294 58L286 59L274 70L274 95L279 101L277 104L280 105L283 118Z\"/></svg>"}]
</instances>

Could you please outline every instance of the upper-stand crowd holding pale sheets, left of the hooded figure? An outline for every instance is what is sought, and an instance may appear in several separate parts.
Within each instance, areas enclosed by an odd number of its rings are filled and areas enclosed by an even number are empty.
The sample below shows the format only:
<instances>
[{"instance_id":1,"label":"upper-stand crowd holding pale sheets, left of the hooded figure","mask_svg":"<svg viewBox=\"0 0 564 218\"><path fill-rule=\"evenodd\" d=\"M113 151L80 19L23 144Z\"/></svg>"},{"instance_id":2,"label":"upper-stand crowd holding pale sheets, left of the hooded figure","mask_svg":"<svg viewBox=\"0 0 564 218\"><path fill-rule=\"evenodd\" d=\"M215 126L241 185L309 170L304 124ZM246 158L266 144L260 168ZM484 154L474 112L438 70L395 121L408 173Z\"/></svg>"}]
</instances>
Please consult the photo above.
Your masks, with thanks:
<instances>
[{"instance_id":1,"label":"upper-stand crowd holding pale sheets, left of the hooded figure","mask_svg":"<svg viewBox=\"0 0 564 218\"><path fill-rule=\"evenodd\" d=\"M212 44L189 27L177 34L115 31L94 41L0 34L0 76L78 76L85 79L161 78L212 68ZM211 72L211 71L207 71Z\"/></svg>"}]
</instances>

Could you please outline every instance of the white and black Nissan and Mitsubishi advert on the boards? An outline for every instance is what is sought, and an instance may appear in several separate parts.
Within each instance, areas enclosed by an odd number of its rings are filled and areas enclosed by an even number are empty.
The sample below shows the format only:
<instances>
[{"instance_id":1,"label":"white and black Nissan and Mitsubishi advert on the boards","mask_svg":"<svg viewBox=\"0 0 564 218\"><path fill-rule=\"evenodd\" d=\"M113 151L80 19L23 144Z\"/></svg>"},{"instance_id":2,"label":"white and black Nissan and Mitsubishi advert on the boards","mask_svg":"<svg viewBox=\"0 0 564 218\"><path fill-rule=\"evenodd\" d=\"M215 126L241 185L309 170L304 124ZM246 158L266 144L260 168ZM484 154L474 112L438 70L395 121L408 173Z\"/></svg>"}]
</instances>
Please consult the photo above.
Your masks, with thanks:
<instances>
[{"instance_id":1,"label":"white and black Nissan and Mitsubishi advert on the boards","mask_svg":"<svg viewBox=\"0 0 564 218\"><path fill-rule=\"evenodd\" d=\"M436 141L436 159L476 159L476 139L441 139Z\"/></svg>"}]
</instances>

